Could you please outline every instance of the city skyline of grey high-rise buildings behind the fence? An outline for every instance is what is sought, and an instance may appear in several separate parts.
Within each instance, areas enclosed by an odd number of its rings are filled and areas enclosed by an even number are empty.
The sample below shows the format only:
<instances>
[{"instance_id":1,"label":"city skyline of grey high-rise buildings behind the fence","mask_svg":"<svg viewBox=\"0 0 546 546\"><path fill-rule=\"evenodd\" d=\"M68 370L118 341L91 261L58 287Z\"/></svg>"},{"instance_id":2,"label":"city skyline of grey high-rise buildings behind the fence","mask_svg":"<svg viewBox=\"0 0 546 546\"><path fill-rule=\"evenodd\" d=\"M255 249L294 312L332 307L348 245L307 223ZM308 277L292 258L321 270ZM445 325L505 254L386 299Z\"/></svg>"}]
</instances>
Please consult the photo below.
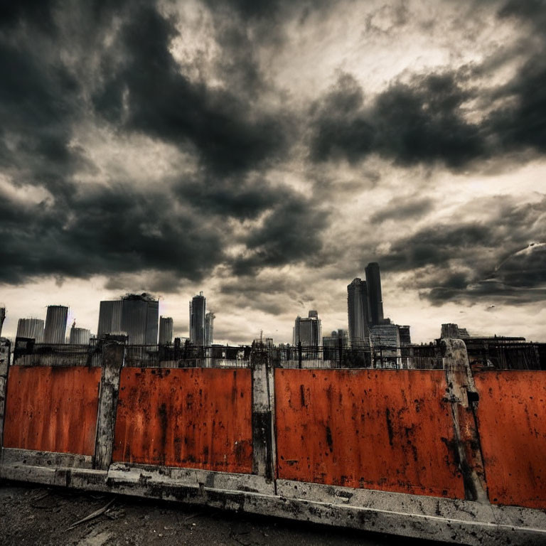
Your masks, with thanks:
<instances>
[{"instance_id":1,"label":"city skyline of grey high-rise buildings behind the fence","mask_svg":"<svg viewBox=\"0 0 546 546\"><path fill-rule=\"evenodd\" d=\"M280 338L275 339L275 344L292 344L298 345L301 341L304 346L321 346L323 339L328 339L328 344L332 343L332 338L346 336L346 342L349 346L364 347L373 345L388 346L405 346L410 344L427 343L427 341L437 340L439 337L455 337L467 338L469 332L467 328L458 327L456 323L441 323L440 335L434 335L429 340L411 339L412 333L411 324L398 324L392 320L390 316L385 316L383 309L382 288L381 288L381 273L380 264L378 262L370 262L365 267L365 281L360 278L353 279L347 286L346 292L346 324L342 328L336 328L331 331L331 336L328 336L328 328L324 331L326 337L322 335L321 318L319 311L311 309L306 317L298 315L295 325L292 327L290 341ZM371 288L368 288L371 287ZM372 294L370 294L370 291ZM124 303L132 305L131 309L124 309ZM182 331L181 328L175 327L172 317L159 315L159 299L149 293L142 294L124 294L118 299L100 301L99 326L97 328L96 337L101 338L105 334L119 335L125 333L128 335L129 343L136 345L140 344L171 344L175 337L187 339L190 343L197 346L211 346L214 343L219 344L250 344L250 340L239 338L239 341L218 340L213 338L213 323L215 314L213 311L207 311L206 297L203 291L196 294L189 301L189 321L188 331ZM135 307L136 306L136 307ZM144 307L143 307L144 306ZM151 306L151 307L150 307ZM141 309L142 307L142 309ZM4 312L4 307L0 307ZM372 311L375 309L375 311ZM387 306L388 309L388 306ZM47 316L52 314L52 311L63 310L62 321L65 324L65 341L59 341L62 337L59 328L56 328L58 340L55 343L73 343L73 338L80 339L89 335L95 336L95 333L90 333L86 328L75 328L76 321L73 320L68 336L67 321L73 314L70 312L70 307L59 305L48 305ZM59 321L56 321L59 322ZM48 325L46 319L45 325ZM101 326L102 325L102 326ZM125 330L123 328L125 327ZM438 326L438 325L437 325ZM38 328L38 329L37 329ZM50 325L51 328L51 325ZM39 336L44 336L45 328L44 321L36 318L19 318L17 336L35 337L31 332L41 330ZM456 331L456 333L455 333ZM182 332L182 333L181 333ZM473 331L472 336L497 336L498 332L492 331ZM513 333L514 334L514 333ZM260 328L259 338L272 339L271 333L263 331ZM499 335L505 336L500 333ZM516 333L517 335L517 333ZM39 338L38 336L38 338ZM510 336L508 336L510 337ZM37 339L38 339L37 338ZM133 339L133 342L131 341ZM134 340L137 341L134 341ZM144 342L144 339L146 340ZM154 341L154 339L156 341ZM536 340L528 340L536 341ZM40 343L41 341L38 341ZM51 341L50 341L51 343ZM337 343L337 341L336 341Z\"/></svg>"}]
</instances>

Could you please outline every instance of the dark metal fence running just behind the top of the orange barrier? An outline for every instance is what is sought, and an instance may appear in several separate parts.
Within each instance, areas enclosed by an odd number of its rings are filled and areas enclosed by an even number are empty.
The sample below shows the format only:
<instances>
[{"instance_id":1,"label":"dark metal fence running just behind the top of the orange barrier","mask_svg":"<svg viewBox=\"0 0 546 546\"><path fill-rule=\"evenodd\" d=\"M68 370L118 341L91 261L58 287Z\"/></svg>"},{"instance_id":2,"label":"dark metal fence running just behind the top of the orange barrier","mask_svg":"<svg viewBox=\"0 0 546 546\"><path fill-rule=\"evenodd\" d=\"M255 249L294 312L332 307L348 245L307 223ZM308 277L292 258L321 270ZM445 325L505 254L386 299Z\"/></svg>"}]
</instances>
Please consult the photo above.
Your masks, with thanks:
<instances>
[{"instance_id":1,"label":"dark metal fence running just behind the top of the orange barrier","mask_svg":"<svg viewBox=\"0 0 546 546\"><path fill-rule=\"evenodd\" d=\"M473 367L497 370L546 370L546 343L503 341L492 338L464 340ZM23 365L101 365L102 346L34 343L17 338L14 362ZM276 368L395 368L430 370L442 368L440 344L413 346L362 346L358 348L309 346L192 346L127 345L125 365L153 368L249 368L251 355L267 354Z\"/></svg>"}]
</instances>

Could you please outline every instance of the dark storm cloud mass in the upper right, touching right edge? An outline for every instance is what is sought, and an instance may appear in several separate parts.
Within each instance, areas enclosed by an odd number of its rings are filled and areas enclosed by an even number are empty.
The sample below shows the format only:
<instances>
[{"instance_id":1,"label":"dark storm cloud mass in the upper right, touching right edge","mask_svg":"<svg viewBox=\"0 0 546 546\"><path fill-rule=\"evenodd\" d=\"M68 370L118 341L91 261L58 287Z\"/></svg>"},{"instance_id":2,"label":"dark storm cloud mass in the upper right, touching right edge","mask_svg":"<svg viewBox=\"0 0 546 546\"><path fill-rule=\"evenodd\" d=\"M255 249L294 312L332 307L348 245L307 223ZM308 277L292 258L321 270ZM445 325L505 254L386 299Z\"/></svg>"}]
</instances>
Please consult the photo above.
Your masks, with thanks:
<instances>
[{"instance_id":1,"label":"dark storm cloud mass in the upper right, touching right edge","mask_svg":"<svg viewBox=\"0 0 546 546\"><path fill-rule=\"evenodd\" d=\"M494 63L486 59L481 65L414 75L407 83L392 82L368 102L355 78L342 75L311 109L311 159L346 159L355 164L379 154L404 166L444 164L459 169L476 159L510 152L543 153L546 3L510 1L498 17L519 18L530 33L516 45L519 54L527 49L527 61L512 80L493 90L480 90L472 79L478 74L488 76L488 70L511 60L512 50L495 53ZM482 105L496 100L501 106L471 122L464 109L471 100Z\"/></svg>"}]
</instances>

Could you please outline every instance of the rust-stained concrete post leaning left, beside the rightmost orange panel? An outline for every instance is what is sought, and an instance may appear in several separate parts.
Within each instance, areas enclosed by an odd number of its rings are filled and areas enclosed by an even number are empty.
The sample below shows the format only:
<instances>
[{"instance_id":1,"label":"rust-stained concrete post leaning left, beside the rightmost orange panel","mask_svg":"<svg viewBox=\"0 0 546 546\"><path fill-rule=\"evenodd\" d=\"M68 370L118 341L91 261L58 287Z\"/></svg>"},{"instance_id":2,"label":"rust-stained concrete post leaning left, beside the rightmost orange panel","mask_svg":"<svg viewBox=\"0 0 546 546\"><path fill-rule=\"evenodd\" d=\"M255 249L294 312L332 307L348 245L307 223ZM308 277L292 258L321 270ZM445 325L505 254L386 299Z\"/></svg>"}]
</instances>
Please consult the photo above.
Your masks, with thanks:
<instances>
[{"instance_id":1,"label":"rust-stained concrete post leaning left, beside the rightmost orange panel","mask_svg":"<svg viewBox=\"0 0 546 546\"><path fill-rule=\"evenodd\" d=\"M453 451L463 475L465 496L470 501L488 503L475 413L479 395L472 377L466 345L461 339L442 339L441 354L456 439Z\"/></svg>"}]
</instances>

